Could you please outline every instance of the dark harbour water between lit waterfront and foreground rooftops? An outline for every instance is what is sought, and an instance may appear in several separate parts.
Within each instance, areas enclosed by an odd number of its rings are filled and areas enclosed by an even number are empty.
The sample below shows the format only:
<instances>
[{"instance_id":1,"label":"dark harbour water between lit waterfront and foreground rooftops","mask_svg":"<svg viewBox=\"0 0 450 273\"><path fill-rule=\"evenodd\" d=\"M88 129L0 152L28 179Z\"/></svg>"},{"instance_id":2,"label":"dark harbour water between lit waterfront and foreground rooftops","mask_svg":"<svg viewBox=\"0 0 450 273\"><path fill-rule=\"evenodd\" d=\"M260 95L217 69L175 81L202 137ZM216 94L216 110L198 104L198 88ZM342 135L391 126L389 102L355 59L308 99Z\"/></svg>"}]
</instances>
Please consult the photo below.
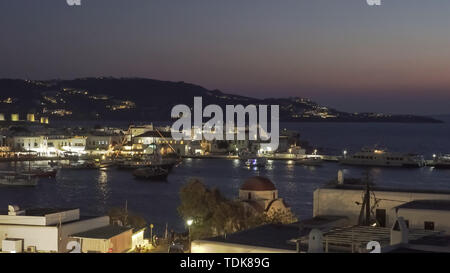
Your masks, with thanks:
<instances>
[{"instance_id":1,"label":"dark harbour water between lit waterfront and foreground rooftops","mask_svg":"<svg viewBox=\"0 0 450 273\"><path fill-rule=\"evenodd\" d=\"M33 163L45 166L47 162ZM25 168L26 163L18 164ZM0 169L10 169L10 163L0 163ZM179 190L190 178L198 178L210 187L218 188L226 197L237 198L239 186L255 175L271 179L279 196L300 219L312 215L313 191L334 179L343 169L345 177L361 177L366 170L359 167L325 163L321 167L301 166L287 161L269 161L267 168L248 168L239 160L186 159L174 168L167 182L136 180L131 172L108 170L60 170L57 179L42 179L35 188L0 188L0 209L8 204L21 207L79 207L82 214L99 215L112 207L128 208L156 225L162 231L165 223L182 230L178 216ZM422 169L372 168L377 184L406 188L450 189L450 171Z\"/></svg>"}]
</instances>

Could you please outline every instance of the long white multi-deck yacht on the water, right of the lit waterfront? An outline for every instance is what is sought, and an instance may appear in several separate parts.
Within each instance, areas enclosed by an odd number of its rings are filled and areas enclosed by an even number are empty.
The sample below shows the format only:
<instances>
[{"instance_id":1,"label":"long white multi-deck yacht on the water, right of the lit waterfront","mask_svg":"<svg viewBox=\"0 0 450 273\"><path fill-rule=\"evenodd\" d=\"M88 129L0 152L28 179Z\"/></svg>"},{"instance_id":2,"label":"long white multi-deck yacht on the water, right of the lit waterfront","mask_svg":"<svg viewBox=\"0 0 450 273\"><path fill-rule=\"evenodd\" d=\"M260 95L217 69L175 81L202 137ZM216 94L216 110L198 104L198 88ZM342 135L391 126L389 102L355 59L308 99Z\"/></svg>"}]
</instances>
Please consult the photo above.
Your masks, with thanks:
<instances>
[{"instance_id":1,"label":"long white multi-deck yacht on the water, right of the lit waterfront","mask_svg":"<svg viewBox=\"0 0 450 273\"><path fill-rule=\"evenodd\" d=\"M355 154L344 155L340 163L361 166L420 168L425 165L425 160L423 156L416 154L402 154L380 149L364 148Z\"/></svg>"}]
</instances>

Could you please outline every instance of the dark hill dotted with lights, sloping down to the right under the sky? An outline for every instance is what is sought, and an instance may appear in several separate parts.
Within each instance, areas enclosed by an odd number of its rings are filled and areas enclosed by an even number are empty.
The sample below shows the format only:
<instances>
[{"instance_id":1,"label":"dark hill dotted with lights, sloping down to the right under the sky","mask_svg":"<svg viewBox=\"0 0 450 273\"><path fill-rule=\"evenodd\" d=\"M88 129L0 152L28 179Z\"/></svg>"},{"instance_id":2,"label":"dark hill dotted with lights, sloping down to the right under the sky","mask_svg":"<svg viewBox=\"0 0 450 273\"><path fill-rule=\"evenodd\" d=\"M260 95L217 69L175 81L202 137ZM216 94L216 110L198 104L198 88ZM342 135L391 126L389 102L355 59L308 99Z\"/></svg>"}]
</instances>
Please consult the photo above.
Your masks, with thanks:
<instances>
[{"instance_id":1,"label":"dark hill dotted with lights, sloping down to the right under the sky","mask_svg":"<svg viewBox=\"0 0 450 273\"><path fill-rule=\"evenodd\" d=\"M257 99L185 82L103 77L0 79L0 120L10 119L11 114L19 114L19 119L34 114L52 120L168 121L174 105L193 105L194 96L201 96L204 105L277 104L282 122L441 122L414 115L346 113L300 97Z\"/></svg>"}]
</instances>

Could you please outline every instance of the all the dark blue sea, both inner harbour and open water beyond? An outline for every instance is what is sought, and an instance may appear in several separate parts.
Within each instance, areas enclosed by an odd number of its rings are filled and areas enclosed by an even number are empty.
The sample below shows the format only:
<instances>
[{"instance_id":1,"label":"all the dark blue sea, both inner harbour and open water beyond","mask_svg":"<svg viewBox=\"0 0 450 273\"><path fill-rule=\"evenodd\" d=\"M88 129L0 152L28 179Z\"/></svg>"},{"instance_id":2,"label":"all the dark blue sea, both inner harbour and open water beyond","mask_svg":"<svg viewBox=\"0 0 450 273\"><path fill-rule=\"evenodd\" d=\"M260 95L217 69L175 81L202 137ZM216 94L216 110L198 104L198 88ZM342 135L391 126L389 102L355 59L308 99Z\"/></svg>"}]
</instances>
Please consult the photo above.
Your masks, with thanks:
<instances>
[{"instance_id":1,"label":"all the dark blue sea, both inner harbour and open water beyond","mask_svg":"<svg viewBox=\"0 0 450 273\"><path fill-rule=\"evenodd\" d=\"M389 150L415 152L431 157L433 153L450 153L450 123L443 124L366 124L366 123L290 123L282 127L299 130L302 139L331 154L344 149L356 151L363 146L378 145ZM33 164L46 166L47 162ZM27 167L27 163L18 163ZM0 163L0 169L12 168ZM301 219L312 215L313 191L336 177L343 169L347 177L360 177L364 168L326 163L322 167L305 167L285 161L269 162L266 169L248 169L239 160L185 159L165 183L136 180L128 171L61 170L56 180L42 179L35 188L0 188L0 210L8 204L20 207L76 207L82 214L100 215L112 207L124 207L142 215L161 232L169 228L183 230L177 213L179 189L189 178L199 178L216 187L229 198L236 198L239 186L254 175L270 178L279 196ZM372 168L377 184L404 188L450 190L450 170Z\"/></svg>"}]
</instances>

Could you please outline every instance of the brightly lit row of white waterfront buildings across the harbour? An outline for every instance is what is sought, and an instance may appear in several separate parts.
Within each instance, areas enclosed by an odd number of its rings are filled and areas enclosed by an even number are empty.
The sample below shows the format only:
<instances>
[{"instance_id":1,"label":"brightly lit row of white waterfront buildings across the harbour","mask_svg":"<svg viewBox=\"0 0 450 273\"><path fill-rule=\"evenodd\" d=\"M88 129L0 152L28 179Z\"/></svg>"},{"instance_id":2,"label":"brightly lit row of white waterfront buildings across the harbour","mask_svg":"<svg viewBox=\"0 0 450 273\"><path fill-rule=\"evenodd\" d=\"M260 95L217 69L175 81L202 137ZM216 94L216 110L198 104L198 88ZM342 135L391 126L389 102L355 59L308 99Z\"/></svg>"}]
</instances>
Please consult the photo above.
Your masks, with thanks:
<instances>
[{"instance_id":1,"label":"brightly lit row of white waterfront buildings across the harbour","mask_svg":"<svg viewBox=\"0 0 450 273\"><path fill-rule=\"evenodd\" d=\"M192 130L194 131L194 129ZM248 131L246 132L248 134ZM167 154L185 155L238 154L250 152L288 152L298 143L298 134L280 136L277 151L261 150L261 142L246 140L175 140L169 127L130 126L127 130L101 128L88 132L0 132L0 157L35 155L64 157L69 155Z\"/></svg>"}]
</instances>

